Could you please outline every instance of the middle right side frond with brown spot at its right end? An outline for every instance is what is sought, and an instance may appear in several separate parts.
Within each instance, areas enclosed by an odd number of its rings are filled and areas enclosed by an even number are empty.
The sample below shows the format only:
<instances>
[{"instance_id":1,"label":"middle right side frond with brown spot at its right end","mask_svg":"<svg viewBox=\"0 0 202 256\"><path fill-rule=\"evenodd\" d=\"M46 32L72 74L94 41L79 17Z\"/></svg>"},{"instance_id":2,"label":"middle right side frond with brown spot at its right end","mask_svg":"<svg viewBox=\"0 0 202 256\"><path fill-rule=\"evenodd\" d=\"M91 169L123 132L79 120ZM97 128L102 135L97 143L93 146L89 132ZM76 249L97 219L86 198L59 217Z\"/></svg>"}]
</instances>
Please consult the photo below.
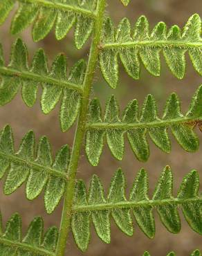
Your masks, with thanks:
<instances>
[{"instance_id":1,"label":"middle right side frond with brown spot at its right end","mask_svg":"<svg viewBox=\"0 0 202 256\"><path fill-rule=\"evenodd\" d=\"M172 93L165 104L163 118L158 118L156 100L152 95L147 95L141 113L138 111L138 101L131 100L127 105L122 120L119 115L118 102L111 96L107 102L102 120L100 102L98 99L91 101L89 107L89 120L86 125L86 156L91 165L98 165L107 136L107 144L111 154L122 160L124 154L124 134L131 145L131 149L139 161L149 158L149 145L147 132L154 144L169 153L171 145L167 129L187 152L196 152L199 148L199 138L193 129L202 124L202 85L192 97L190 108L183 116L181 102L176 93Z\"/></svg>"}]
</instances>

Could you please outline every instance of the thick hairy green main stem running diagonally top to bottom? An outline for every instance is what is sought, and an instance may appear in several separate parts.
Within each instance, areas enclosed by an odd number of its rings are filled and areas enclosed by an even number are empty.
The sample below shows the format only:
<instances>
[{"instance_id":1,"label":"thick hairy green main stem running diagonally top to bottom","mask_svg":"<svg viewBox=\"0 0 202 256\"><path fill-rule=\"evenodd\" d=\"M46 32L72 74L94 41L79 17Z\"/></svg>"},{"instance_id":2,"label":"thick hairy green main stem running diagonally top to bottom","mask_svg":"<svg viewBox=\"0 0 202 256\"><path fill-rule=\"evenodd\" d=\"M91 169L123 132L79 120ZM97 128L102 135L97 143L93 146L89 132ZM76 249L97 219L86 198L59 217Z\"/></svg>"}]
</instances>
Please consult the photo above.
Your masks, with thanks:
<instances>
[{"instance_id":1,"label":"thick hairy green main stem running diagonally top to bottom","mask_svg":"<svg viewBox=\"0 0 202 256\"><path fill-rule=\"evenodd\" d=\"M84 134L86 129L86 119L89 107L91 86L93 82L96 64L98 62L98 46L100 44L102 34L102 24L104 18L105 5L106 0L98 0L98 6L96 10L97 18L95 20L95 25L93 28L93 39L91 43L89 62L86 68L86 75L84 77L80 115L77 122L77 130L75 131L71 160L68 166L68 184L66 186L66 192L64 195L64 206L62 210L62 219L60 222L59 239L57 242L57 256L64 256L64 251L66 248L66 239L68 237L68 232L71 228L71 213L73 205L73 195L75 190L75 177L77 172L77 165L80 160L80 151L82 148L82 143L84 140Z\"/></svg>"}]
</instances>

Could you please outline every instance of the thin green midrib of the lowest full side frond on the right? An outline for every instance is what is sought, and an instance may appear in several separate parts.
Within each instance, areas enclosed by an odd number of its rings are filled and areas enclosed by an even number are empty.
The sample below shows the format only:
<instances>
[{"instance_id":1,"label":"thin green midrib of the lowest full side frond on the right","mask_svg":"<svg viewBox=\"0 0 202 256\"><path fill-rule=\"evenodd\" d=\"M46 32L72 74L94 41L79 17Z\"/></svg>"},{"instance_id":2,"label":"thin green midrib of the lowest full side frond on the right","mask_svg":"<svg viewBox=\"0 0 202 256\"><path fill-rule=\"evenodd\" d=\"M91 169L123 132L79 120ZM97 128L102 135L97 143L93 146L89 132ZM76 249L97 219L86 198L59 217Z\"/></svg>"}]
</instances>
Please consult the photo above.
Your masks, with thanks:
<instances>
[{"instance_id":1,"label":"thin green midrib of the lowest full side frond on the right","mask_svg":"<svg viewBox=\"0 0 202 256\"><path fill-rule=\"evenodd\" d=\"M118 203L98 203L95 205L74 205L74 212L88 212L93 210L111 210L116 208L143 208L152 206L153 208L158 205L183 205L184 203L201 203L202 197L187 198L187 199L162 199L162 200L143 200L143 201L123 201Z\"/></svg>"}]
</instances>

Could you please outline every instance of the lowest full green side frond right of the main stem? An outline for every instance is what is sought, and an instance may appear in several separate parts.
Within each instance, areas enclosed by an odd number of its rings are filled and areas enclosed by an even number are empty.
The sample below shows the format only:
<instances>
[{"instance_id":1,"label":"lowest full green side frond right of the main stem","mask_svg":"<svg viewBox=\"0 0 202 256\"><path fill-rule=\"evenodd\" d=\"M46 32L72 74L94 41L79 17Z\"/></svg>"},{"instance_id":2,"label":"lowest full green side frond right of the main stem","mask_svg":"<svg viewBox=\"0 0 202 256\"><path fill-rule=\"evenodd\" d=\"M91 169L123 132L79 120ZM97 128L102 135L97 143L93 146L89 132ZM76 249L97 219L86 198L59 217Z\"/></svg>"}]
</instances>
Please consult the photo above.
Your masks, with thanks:
<instances>
[{"instance_id":1,"label":"lowest full green side frond right of the main stem","mask_svg":"<svg viewBox=\"0 0 202 256\"><path fill-rule=\"evenodd\" d=\"M103 186L98 176L93 175L88 193L84 182L77 181L72 231L75 242L81 250L86 250L89 245L90 219L93 221L98 237L105 243L109 243L111 239L111 216L122 232L129 236L133 235L131 212L145 235L153 238L155 235L154 209L157 210L165 228L169 232L178 233L181 230L181 221L177 209L181 208L192 230L202 235L202 198L198 192L199 174L196 170L192 170L185 176L176 198L172 196L173 174L169 166L163 170L152 199L148 197L148 176L144 169L138 172L128 200L125 187L125 175L120 169L111 180L107 198L104 196Z\"/></svg>"}]
</instances>

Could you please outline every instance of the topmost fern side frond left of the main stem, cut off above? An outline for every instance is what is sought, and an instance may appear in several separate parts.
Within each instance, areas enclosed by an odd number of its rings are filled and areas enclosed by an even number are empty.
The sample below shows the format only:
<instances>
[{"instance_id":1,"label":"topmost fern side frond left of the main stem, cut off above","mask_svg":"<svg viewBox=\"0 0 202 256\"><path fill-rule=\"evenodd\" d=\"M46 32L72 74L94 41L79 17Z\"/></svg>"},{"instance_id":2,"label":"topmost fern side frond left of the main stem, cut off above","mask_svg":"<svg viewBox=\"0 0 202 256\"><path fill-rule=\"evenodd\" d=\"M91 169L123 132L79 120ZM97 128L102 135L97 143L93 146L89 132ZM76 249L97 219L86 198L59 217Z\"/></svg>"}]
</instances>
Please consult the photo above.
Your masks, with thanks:
<instances>
[{"instance_id":1,"label":"topmost fern side frond left of the main stem, cut off above","mask_svg":"<svg viewBox=\"0 0 202 256\"><path fill-rule=\"evenodd\" d=\"M55 36L62 39L75 24L75 45L82 48L92 33L97 0L0 0L0 24L18 3L11 33L16 35L33 24L35 42L48 35L55 24Z\"/></svg>"}]
</instances>

